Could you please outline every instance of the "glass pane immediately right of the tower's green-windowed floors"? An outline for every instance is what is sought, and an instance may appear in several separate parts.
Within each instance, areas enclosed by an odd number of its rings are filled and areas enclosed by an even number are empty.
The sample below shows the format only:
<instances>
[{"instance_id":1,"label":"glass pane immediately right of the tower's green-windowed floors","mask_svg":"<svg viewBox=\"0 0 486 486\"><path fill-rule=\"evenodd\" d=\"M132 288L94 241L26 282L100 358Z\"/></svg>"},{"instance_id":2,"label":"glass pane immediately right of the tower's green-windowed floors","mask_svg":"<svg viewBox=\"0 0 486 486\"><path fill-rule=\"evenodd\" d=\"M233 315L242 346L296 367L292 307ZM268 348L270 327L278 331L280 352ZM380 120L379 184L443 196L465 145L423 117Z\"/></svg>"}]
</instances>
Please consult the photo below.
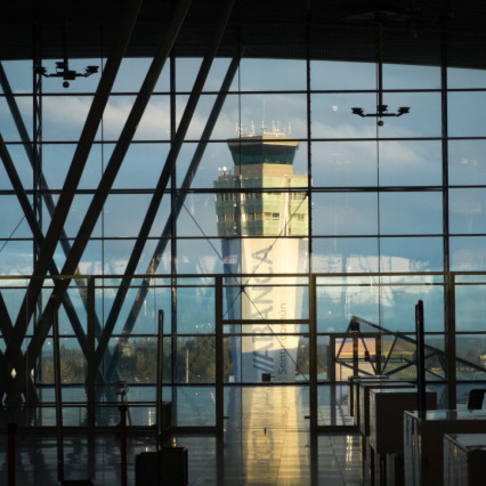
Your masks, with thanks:
<instances>
[{"instance_id":1,"label":"glass pane immediately right of the tower's green-windowed floors","mask_svg":"<svg viewBox=\"0 0 486 486\"><path fill-rule=\"evenodd\" d=\"M312 204L314 235L366 235L378 232L375 193L315 193Z\"/></svg>"}]
</instances>

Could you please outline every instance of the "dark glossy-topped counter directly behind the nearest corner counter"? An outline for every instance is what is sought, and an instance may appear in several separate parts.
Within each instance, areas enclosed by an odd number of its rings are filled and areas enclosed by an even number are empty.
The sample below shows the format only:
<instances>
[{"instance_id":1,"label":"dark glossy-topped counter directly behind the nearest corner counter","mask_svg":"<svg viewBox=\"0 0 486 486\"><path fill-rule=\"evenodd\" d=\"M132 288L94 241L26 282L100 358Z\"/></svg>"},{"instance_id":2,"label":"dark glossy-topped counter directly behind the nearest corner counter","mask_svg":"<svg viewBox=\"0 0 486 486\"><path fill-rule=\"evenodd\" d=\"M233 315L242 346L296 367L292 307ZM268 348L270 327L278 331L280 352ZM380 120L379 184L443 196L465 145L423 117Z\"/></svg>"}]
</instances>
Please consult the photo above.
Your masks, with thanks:
<instances>
[{"instance_id":1,"label":"dark glossy-topped counter directly behind the nearest corner counter","mask_svg":"<svg viewBox=\"0 0 486 486\"><path fill-rule=\"evenodd\" d=\"M419 416L418 412L405 412L403 427L405 485L442 486L446 484L444 435L486 433L486 413L483 410L434 410Z\"/></svg>"}]
</instances>

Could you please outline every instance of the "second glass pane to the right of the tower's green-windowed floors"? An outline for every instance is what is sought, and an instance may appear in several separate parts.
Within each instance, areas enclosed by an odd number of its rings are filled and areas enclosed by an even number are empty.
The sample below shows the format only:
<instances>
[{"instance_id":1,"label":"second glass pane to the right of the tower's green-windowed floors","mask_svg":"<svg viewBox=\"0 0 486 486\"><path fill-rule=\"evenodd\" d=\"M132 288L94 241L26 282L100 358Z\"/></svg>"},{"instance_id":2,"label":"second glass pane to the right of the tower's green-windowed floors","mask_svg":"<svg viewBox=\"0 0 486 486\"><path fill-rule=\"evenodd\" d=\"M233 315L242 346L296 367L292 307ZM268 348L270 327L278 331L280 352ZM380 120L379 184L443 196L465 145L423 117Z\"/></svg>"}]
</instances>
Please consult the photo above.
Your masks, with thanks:
<instances>
[{"instance_id":1,"label":"second glass pane to the right of the tower's green-windowed floors","mask_svg":"<svg viewBox=\"0 0 486 486\"><path fill-rule=\"evenodd\" d=\"M379 196L382 234L442 232L442 193L390 192Z\"/></svg>"}]
</instances>

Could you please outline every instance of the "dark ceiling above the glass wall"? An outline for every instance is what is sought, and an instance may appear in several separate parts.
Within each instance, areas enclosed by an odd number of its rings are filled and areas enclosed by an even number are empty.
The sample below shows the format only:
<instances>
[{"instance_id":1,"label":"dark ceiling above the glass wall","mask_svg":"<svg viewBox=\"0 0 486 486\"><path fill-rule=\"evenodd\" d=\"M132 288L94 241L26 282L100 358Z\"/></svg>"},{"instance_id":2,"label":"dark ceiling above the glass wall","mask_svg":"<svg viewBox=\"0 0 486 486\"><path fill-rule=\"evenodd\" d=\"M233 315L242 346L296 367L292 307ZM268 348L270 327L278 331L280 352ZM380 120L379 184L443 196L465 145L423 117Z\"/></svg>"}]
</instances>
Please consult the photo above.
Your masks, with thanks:
<instances>
[{"instance_id":1,"label":"dark ceiling above the glass wall","mask_svg":"<svg viewBox=\"0 0 486 486\"><path fill-rule=\"evenodd\" d=\"M226 0L194 0L174 46L203 55ZM177 0L145 0L128 56L152 56ZM0 59L100 57L109 51L124 10L120 0L19 0L2 5ZM218 55L242 46L250 57L370 60L378 22L383 60L439 64L447 41L450 65L486 67L486 3L467 0L239 0ZM309 48L307 47L309 46Z\"/></svg>"}]
</instances>

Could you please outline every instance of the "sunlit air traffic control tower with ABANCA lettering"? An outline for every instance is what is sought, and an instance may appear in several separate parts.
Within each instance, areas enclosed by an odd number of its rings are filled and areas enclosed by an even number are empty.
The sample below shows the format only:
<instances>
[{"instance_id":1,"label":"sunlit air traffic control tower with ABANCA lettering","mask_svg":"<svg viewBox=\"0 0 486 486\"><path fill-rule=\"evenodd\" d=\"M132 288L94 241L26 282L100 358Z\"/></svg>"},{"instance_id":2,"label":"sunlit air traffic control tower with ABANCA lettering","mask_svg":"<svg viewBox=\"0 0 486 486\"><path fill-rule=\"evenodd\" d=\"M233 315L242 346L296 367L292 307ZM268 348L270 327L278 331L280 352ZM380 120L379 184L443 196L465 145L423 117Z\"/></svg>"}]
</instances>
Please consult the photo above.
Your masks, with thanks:
<instances>
[{"instance_id":1,"label":"sunlit air traffic control tower with ABANCA lettering","mask_svg":"<svg viewBox=\"0 0 486 486\"><path fill-rule=\"evenodd\" d=\"M234 168L220 169L214 183L225 319L252 321L232 343L234 378L258 382L270 374L272 381L291 382L299 337L287 334L300 329L285 321L301 319L304 291L295 277L270 274L308 271L307 175L293 173L299 144L275 127L260 133L252 127L227 143ZM265 324L269 319L281 323Z\"/></svg>"}]
</instances>

